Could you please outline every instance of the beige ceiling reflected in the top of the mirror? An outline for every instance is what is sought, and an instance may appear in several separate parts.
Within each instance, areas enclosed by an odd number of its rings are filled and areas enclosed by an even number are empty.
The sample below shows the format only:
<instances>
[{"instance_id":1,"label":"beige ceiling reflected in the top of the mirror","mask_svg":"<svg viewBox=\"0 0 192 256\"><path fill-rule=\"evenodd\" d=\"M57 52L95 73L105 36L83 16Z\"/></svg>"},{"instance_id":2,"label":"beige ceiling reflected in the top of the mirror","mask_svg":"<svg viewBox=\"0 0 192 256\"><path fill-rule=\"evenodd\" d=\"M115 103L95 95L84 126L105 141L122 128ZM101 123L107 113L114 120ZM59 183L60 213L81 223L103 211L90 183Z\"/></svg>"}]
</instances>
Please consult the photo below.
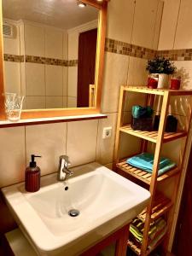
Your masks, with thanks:
<instances>
[{"instance_id":1,"label":"beige ceiling reflected in the top of the mirror","mask_svg":"<svg viewBox=\"0 0 192 256\"><path fill-rule=\"evenodd\" d=\"M3 0L3 18L70 29L98 19L98 9L79 8L76 0Z\"/></svg>"}]
</instances>

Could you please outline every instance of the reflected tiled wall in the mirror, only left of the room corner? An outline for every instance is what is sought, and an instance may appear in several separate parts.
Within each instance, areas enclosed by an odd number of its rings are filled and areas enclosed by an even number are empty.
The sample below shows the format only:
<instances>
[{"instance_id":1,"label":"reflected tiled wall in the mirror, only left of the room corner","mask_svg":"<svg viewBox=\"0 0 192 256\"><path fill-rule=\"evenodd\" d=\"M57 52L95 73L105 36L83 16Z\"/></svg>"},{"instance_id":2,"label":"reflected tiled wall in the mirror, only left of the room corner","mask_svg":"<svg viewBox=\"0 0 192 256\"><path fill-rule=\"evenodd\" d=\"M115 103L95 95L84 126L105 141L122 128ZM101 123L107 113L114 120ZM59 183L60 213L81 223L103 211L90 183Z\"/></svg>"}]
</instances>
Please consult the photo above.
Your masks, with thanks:
<instances>
[{"instance_id":1,"label":"reflected tiled wall in the mirror, only left of the room corner","mask_svg":"<svg viewBox=\"0 0 192 256\"><path fill-rule=\"evenodd\" d=\"M16 38L4 38L6 90L15 92L16 85L26 96L23 108L67 107L67 65L55 62L67 60L67 31L28 21L14 25ZM10 54L20 55L20 63Z\"/></svg>"}]
</instances>

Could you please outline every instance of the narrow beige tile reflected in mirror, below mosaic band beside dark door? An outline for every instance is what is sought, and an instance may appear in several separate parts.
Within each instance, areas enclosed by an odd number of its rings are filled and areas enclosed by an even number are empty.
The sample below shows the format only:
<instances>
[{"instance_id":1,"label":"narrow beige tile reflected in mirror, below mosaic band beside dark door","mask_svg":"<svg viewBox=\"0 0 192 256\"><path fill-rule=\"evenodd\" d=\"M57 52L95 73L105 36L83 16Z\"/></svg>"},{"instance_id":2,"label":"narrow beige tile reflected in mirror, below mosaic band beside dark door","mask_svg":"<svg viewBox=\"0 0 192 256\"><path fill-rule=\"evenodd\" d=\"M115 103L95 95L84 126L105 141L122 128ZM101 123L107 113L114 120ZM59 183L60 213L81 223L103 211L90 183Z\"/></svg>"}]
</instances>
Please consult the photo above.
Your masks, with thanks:
<instances>
[{"instance_id":1,"label":"narrow beige tile reflected in mirror, below mosaic band beside dark door","mask_svg":"<svg viewBox=\"0 0 192 256\"><path fill-rule=\"evenodd\" d=\"M68 67L68 96L77 97L78 67Z\"/></svg>"}]
</instances>

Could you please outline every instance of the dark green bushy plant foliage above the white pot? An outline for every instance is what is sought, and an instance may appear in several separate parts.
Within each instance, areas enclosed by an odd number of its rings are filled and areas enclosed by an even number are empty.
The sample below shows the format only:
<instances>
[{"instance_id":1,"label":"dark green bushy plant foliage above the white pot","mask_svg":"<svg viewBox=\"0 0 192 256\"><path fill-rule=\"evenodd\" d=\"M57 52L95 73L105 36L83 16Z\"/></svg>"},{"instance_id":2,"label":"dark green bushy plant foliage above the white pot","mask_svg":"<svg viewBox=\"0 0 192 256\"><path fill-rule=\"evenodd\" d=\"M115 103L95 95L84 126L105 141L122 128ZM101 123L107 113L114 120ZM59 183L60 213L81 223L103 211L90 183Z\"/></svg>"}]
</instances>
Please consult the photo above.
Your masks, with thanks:
<instances>
[{"instance_id":1,"label":"dark green bushy plant foliage above the white pot","mask_svg":"<svg viewBox=\"0 0 192 256\"><path fill-rule=\"evenodd\" d=\"M174 63L169 59L156 56L153 60L148 61L146 70L148 71L148 73L172 74L176 71L176 67Z\"/></svg>"}]
</instances>

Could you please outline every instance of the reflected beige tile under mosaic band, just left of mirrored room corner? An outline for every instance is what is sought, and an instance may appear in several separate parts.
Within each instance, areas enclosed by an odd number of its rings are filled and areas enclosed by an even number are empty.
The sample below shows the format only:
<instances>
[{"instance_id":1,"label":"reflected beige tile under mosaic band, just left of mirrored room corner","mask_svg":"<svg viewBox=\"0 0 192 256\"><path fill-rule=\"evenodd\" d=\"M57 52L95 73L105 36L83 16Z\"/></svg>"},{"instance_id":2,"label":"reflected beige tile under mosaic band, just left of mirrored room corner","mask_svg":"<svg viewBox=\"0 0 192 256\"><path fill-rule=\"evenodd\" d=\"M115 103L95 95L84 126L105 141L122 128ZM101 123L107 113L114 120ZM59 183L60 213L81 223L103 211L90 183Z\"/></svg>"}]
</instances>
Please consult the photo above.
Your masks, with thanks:
<instances>
[{"instance_id":1,"label":"reflected beige tile under mosaic band, just left of mirrored room corner","mask_svg":"<svg viewBox=\"0 0 192 256\"><path fill-rule=\"evenodd\" d=\"M62 67L45 65L46 96L62 96Z\"/></svg>"}]
</instances>

